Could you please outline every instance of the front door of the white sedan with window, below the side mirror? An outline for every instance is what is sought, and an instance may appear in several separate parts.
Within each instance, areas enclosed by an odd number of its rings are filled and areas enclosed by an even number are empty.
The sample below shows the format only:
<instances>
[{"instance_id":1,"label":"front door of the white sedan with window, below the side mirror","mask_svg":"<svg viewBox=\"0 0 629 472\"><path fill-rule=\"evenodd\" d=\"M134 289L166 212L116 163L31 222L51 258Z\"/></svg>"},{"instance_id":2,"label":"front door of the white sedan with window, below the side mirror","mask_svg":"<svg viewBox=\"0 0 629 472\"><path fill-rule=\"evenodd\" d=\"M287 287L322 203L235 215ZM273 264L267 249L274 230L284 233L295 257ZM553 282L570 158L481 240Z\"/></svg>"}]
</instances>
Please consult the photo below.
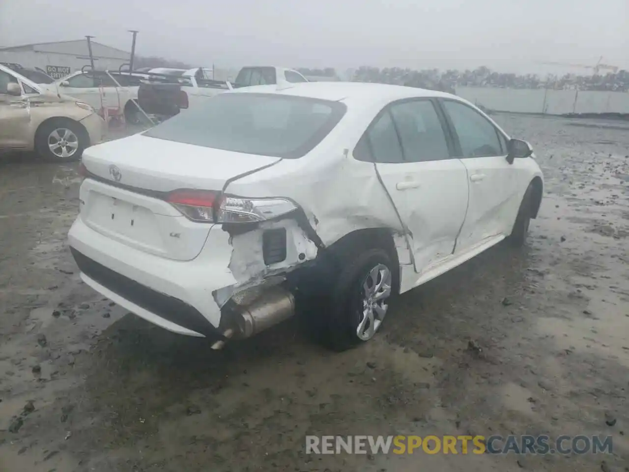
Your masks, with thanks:
<instances>
[{"instance_id":1,"label":"front door of the white sedan with window, below the side mirror","mask_svg":"<svg viewBox=\"0 0 629 472\"><path fill-rule=\"evenodd\" d=\"M469 176L469 208L457 242L457 252L465 252L489 237L511 232L520 206L521 163L507 162L506 137L479 111L452 99L440 103Z\"/></svg>"}]
</instances>

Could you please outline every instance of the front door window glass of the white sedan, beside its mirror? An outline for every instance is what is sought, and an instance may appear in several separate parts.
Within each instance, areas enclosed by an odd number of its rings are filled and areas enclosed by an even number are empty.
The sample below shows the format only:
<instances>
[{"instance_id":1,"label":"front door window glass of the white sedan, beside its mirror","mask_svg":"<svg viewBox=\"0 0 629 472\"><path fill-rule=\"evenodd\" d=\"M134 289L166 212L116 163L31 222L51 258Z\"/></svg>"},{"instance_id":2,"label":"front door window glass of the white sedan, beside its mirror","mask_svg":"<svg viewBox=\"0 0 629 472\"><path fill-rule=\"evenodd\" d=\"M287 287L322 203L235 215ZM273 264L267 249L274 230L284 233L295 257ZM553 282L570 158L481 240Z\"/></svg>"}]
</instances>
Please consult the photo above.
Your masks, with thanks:
<instances>
[{"instance_id":1,"label":"front door window glass of the white sedan, beside its mirror","mask_svg":"<svg viewBox=\"0 0 629 472\"><path fill-rule=\"evenodd\" d=\"M498 130L491 121L464 103L453 100L443 100L442 103L459 137L462 157L506 154L502 150Z\"/></svg>"}]
</instances>

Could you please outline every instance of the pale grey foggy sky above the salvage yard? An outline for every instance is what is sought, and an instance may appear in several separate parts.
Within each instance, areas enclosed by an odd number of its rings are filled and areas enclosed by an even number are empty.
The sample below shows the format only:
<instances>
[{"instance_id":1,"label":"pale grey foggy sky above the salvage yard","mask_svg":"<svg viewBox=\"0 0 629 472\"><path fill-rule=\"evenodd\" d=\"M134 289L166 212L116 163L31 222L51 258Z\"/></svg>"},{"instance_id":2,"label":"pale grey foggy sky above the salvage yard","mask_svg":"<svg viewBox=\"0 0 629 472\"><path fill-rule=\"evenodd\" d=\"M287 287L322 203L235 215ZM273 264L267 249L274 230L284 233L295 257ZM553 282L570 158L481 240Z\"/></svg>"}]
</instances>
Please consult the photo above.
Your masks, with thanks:
<instances>
[{"instance_id":1,"label":"pale grey foggy sky above the salvage yard","mask_svg":"<svg viewBox=\"0 0 629 472\"><path fill-rule=\"evenodd\" d=\"M629 68L629 0L0 0L0 46L95 41L194 65ZM586 74L586 71L582 71Z\"/></svg>"}]
</instances>

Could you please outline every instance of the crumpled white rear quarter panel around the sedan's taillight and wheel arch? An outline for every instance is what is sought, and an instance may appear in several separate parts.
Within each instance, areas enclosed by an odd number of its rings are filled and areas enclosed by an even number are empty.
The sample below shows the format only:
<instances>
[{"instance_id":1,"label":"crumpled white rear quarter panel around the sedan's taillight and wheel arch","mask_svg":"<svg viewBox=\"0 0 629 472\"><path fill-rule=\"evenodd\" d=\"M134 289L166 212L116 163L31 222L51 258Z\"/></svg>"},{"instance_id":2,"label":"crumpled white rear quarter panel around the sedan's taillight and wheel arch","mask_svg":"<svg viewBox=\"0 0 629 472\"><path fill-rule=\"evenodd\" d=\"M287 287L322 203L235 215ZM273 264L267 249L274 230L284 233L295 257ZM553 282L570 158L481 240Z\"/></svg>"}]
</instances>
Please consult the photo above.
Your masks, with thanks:
<instances>
[{"instance_id":1,"label":"crumpled white rear quarter panel around the sedan's taillight and wheel arch","mask_svg":"<svg viewBox=\"0 0 629 472\"><path fill-rule=\"evenodd\" d=\"M315 149L299 159L282 159L274 166L230 182L225 193L250 198L289 198L299 205L320 243L329 246L343 236L366 228L388 228L394 235L399 262L409 264L404 228L376 174L373 163L353 159L352 150L381 106L353 110ZM352 116L353 115L353 116ZM357 116L360 115L360 116ZM345 123L349 123L344 126ZM357 123L360 123L357 126ZM344 129L345 128L345 129ZM266 266L262 256L265 229L287 230L287 257ZM231 237L229 269L237 284L216 291L219 305L262 278L287 273L315 259L317 245L295 218L260 223L250 232ZM299 254L304 254L299 259Z\"/></svg>"}]
</instances>

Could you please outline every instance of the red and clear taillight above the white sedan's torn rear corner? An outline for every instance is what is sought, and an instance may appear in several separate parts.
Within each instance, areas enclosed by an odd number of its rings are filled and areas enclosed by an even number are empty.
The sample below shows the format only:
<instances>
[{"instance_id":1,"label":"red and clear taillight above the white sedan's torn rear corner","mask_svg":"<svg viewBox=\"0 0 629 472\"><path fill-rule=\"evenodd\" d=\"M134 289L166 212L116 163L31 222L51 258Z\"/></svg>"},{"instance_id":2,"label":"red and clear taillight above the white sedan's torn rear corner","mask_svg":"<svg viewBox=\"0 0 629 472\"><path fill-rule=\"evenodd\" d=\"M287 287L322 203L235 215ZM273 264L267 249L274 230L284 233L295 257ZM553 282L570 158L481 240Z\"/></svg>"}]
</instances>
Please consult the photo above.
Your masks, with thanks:
<instances>
[{"instance_id":1,"label":"red and clear taillight above the white sedan's torn rear corner","mask_svg":"<svg viewBox=\"0 0 629 472\"><path fill-rule=\"evenodd\" d=\"M297 208L286 198L242 198L194 189L174 190L166 201L190 220L200 223L262 222Z\"/></svg>"}]
</instances>

